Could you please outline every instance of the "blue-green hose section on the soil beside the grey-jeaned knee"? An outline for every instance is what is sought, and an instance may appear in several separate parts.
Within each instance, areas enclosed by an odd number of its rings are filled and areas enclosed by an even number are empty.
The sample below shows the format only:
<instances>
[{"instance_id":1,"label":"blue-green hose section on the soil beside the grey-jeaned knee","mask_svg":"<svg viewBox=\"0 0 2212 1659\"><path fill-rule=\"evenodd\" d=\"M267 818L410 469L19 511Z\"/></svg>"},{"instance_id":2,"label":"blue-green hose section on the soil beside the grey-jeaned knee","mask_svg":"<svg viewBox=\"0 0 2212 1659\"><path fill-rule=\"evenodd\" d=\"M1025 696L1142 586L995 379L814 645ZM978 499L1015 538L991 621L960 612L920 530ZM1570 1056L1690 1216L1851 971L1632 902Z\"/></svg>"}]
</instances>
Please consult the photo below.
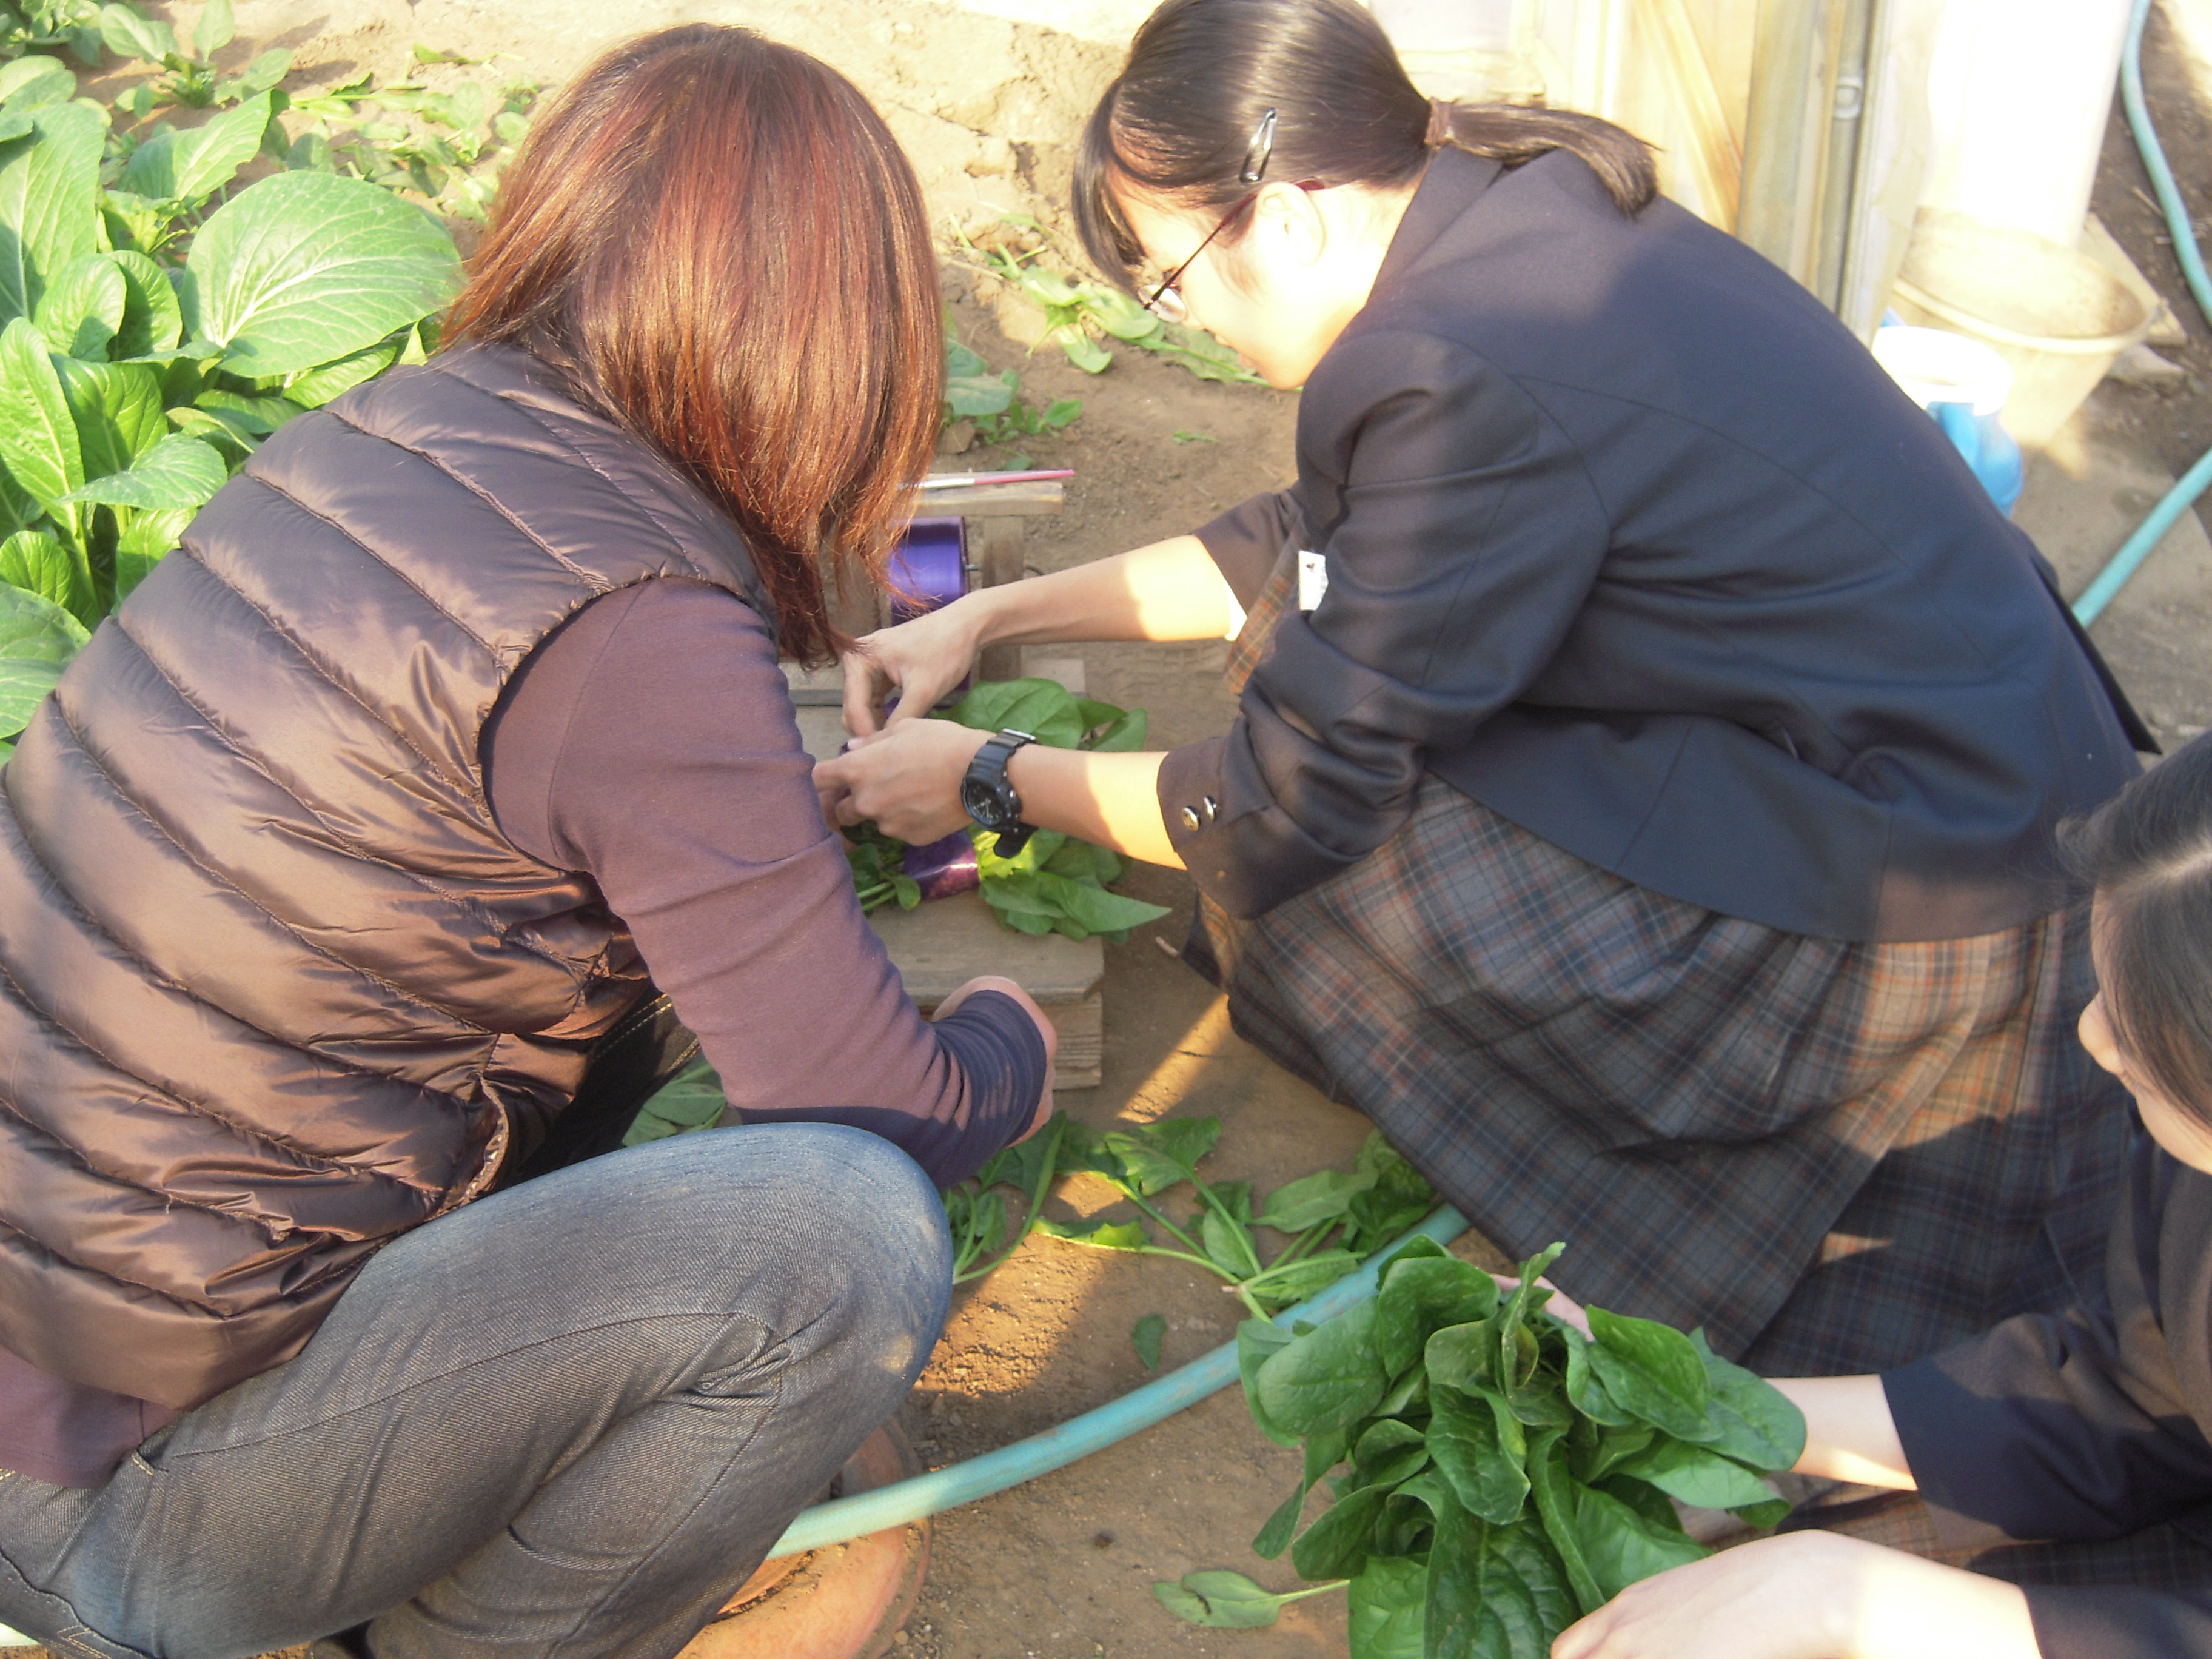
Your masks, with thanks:
<instances>
[{"instance_id":1,"label":"blue-green hose section on the soil beside the grey-jeaned knee","mask_svg":"<svg viewBox=\"0 0 2212 1659\"><path fill-rule=\"evenodd\" d=\"M1285 1307L1274 1316L1274 1323L1290 1325L1303 1318L1318 1325L1336 1318L1336 1314L1376 1294L1376 1274L1383 1272L1383 1263L1407 1239L1433 1239L1442 1245L1462 1232L1467 1232L1467 1217L1444 1206L1389 1250L1378 1250L1356 1274L1338 1279L1312 1301ZM1150 1429L1155 1422L1172 1418L1183 1407L1197 1405L1208 1394L1219 1394L1234 1380L1237 1343L1223 1343L1206 1358L1168 1371L1157 1383L1146 1383L1141 1389L1124 1394L1097 1411L1084 1411L1057 1429L1033 1433L1029 1440L1015 1440L1011 1447L987 1451L982 1458L956 1462L951 1469L900 1480L896 1486L878 1486L876 1491L816 1504L790 1524L768 1555L774 1559L776 1555L818 1551L830 1544L880 1533L887 1526L918 1522L922 1515L936 1515L940 1509L973 1504L1009 1486L1020 1486L1024 1480L1048 1475L1053 1469L1062 1469L1077 1458L1088 1458L1093 1451L1104 1451L1117 1440L1128 1440L1139 1429Z\"/></svg>"}]
</instances>

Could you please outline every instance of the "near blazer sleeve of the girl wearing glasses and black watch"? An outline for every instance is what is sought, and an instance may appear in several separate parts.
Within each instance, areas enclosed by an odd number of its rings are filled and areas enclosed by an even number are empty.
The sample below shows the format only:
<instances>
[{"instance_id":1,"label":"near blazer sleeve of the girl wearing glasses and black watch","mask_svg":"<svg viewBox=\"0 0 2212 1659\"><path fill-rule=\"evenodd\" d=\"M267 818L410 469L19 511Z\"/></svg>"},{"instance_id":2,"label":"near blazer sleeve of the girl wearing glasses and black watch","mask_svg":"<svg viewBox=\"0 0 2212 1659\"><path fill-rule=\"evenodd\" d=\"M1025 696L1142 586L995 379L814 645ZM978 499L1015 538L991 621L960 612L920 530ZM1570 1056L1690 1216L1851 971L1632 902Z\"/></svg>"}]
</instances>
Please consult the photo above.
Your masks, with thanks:
<instances>
[{"instance_id":1,"label":"near blazer sleeve of the girl wearing glasses and black watch","mask_svg":"<svg viewBox=\"0 0 2212 1659\"><path fill-rule=\"evenodd\" d=\"M1338 341L1305 400L1329 411L1305 420L1298 458L1327 593L1274 630L1228 734L1159 772L1170 841L1232 916L1389 841L1425 750L1464 741L1542 672L1610 546L1582 453L1462 345Z\"/></svg>"}]
</instances>

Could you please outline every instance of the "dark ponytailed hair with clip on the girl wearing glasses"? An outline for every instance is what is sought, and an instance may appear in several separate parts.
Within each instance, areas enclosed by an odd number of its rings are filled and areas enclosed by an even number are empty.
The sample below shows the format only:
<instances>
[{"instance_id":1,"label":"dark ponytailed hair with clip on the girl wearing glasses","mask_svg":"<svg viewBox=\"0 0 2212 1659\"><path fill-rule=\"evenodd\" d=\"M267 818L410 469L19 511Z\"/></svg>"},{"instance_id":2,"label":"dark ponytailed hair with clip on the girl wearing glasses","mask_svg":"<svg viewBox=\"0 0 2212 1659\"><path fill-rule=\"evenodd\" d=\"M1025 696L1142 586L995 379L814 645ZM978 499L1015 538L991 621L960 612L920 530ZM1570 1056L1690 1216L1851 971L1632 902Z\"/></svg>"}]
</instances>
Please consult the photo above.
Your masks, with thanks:
<instances>
[{"instance_id":1,"label":"dark ponytailed hair with clip on the girl wearing glasses","mask_svg":"<svg viewBox=\"0 0 2212 1659\"><path fill-rule=\"evenodd\" d=\"M1624 215L1659 195L1650 146L1595 115L1517 104L1431 104L1389 35L1354 0L1166 0L1084 124L1075 150L1075 228L1084 252L1124 285L1144 248L1115 181L1197 210L1250 190L1237 173L1276 111L1270 179L1398 188L1440 144L1509 168L1551 150L1579 155Z\"/></svg>"}]
</instances>

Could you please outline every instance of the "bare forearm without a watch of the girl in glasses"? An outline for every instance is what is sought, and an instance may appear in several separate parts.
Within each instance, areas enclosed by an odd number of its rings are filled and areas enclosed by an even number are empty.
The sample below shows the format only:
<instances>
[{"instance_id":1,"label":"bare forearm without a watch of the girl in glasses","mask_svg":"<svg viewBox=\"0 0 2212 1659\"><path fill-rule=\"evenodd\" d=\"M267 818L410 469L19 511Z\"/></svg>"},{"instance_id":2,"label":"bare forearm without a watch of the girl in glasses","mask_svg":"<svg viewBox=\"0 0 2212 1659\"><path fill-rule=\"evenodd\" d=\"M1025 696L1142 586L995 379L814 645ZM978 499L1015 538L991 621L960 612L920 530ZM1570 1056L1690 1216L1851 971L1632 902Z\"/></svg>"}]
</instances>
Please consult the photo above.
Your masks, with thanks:
<instances>
[{"instance_id":1,"label":"bare forearm without a watch of the girl in glasses","mask_svg":"<svg viewBox=\"0 0 2212 1659\"><path fill-rule=\"evenodd\" d=\"M1221 639L1234 597L1197 535L1172 535L1071 571L980 588L980 646L1046 646L1071 639Z\"/></svg>"}]
</instances>

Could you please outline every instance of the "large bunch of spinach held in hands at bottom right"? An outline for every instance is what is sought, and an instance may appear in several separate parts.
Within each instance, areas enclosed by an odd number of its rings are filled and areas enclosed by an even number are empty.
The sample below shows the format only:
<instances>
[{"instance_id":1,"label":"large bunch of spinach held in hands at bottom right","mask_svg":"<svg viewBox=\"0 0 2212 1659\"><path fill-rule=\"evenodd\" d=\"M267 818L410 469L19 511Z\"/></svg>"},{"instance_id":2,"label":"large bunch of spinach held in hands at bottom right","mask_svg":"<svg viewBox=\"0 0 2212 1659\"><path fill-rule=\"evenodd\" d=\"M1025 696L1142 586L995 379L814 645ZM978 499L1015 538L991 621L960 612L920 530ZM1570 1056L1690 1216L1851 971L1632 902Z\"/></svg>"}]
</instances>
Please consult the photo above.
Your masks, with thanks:
<instances>
[{"instance_id":1,"label":"large bunch of spinach held in hands at bottom right","mask_svg":"<svg viewBox=\"0 0 2212 1659\"><path fill-rule=\"evenodd\" d=\"M1252 1420L1305 1447L1305 1480L1252 1548L1349 1584L1352 1659L1544 1659L1577 1617L1705 1555L1670 1500L1754 1526L1787 1513L1759 1475L1803 1453L1798 1409L1701 1332L1593 1307L1584 1338L1546 1314L1535 1281L1562 1248L1500 1296L1416 1239L1374 1301L1318 1327L1239 1327ZM1301 1533L1307 1493L1340 1464ZM1307 1590L1206 1573L1155 1593L1197 1624L1256 1626Z\"/></svg>"}]
</instances>

